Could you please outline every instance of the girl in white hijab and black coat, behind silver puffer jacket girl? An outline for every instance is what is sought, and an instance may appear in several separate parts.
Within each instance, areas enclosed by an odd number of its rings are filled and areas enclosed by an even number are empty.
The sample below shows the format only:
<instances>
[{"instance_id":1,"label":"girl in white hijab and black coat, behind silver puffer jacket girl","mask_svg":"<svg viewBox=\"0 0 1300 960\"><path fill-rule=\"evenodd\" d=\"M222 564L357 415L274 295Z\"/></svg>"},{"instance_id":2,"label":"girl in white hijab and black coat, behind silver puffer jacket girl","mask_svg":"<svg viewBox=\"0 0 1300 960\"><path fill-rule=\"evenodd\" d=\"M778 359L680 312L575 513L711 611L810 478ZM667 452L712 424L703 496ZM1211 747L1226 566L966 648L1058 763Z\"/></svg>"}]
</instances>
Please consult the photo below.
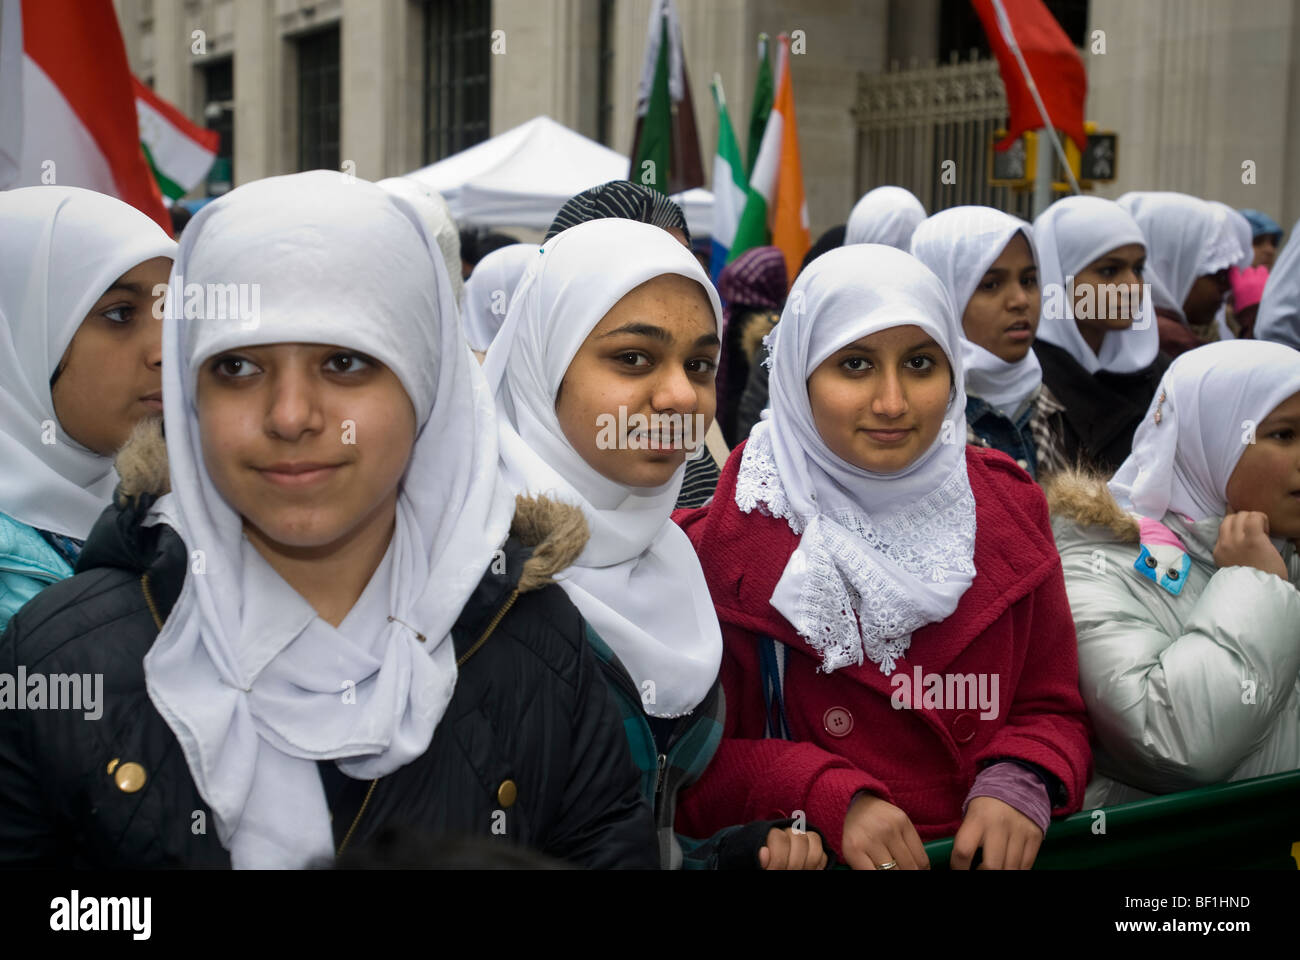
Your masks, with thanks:
<instances>
[{"instance_id":1,"label":"girl in white hijab and black coat, behind silver puffer jacket girl","mask_svg":"<svg viewBox=\"0 0 1300 960\"><path fill-rule=\"evenodd\" d=\"M1053 420L1060 449L1067 463L1110 473L1169 366L1144 286L1145 238L1113 200L1069 196L1034 221L1034 246L1043 294L1034 353L1063 407Z\"/></svg>"}]
</instances>

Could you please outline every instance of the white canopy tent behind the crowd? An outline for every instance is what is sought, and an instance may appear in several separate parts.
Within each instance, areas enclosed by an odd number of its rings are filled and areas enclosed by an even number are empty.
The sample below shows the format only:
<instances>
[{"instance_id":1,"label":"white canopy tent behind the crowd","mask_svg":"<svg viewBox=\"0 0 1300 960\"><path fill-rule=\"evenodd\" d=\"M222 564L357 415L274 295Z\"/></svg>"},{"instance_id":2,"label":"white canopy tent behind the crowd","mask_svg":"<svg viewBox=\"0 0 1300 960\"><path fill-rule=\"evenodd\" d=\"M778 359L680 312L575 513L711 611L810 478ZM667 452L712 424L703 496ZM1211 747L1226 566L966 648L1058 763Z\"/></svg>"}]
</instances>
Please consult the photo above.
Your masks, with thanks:
<instances>
[{"instance_id":1,"label":"white canopy tent behind the crowd","mask_svg":"<svg viewBox=\"0 0 1300 960\"><path fill-rule=\"evenodd\" d=\"M460 225L545 232L575 194L625 178L628 159L550 117L533 117L407 176L442 194ZM696 189L672 199L692 235L712 233L711 193Z\"/></svg>"}]
</instances>

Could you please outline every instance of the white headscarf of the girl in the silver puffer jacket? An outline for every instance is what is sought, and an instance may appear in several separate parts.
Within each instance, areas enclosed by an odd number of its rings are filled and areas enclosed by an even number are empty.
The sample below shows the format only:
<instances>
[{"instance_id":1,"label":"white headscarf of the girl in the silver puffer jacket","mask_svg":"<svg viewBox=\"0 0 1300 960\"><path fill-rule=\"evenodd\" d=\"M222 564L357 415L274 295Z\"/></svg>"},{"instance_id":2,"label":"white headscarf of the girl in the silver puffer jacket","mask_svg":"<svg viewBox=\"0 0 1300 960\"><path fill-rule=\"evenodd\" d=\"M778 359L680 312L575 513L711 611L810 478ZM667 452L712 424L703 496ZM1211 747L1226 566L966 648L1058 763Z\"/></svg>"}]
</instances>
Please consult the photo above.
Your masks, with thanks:
<instances>
[{"instance_id":1,"label":"white headscarf of the girl in the silver puffer jacket","mask_svg":"<svg viewBox=\"0 0 1300 960\"><path fill-rule=\"evenodd\" d=\"M1188 350L1165 371L1110 492L1153 520L1170 510L1193 522L1223 516L1254 427L1295 393L1300 353L1288 346L1231 340Z\"/></svg>"}]
</instances>

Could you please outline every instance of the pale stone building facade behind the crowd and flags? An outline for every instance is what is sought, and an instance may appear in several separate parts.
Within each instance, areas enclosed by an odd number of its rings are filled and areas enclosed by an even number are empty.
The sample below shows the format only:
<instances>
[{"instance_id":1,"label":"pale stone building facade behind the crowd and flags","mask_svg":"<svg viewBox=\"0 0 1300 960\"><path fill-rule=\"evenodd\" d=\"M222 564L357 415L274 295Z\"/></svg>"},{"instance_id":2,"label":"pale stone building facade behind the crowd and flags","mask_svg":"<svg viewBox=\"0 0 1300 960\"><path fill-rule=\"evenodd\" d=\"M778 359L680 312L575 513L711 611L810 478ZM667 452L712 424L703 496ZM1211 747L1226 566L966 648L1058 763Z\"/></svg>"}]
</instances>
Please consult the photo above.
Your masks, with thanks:
<instances>
[{"instance_id":1,"label":"pale stone building facade behind the crowd and flags","mask_svg":"<svg viewBox=\"0 0 1300 960\"><path fill-rule=\"evenodd\" d=\"M224 130L235 183L322 160L370 180L396 176L542 113L625 152L651 9L651 0L114 3L133 69L195 121ZM1265 209L1287 226L1300 216L1300 183L1286 173L1300 148L1300 0L1049 5L1084 52L1088 118L1119 134L1118 180L1098 194L1183 190ZM677 7L706 167L716 142L714 74L744 150L757 35L803 31L792 78L814 235L878 185L863 147L874 85L910 83L931 112L948 96L944 117L959 121L963 82L945 70L953 55L967 59L958 47L983 42L968 0ZM1093 52L1097 31L1104 53ZM933 207L963 202L937 185L944 151L923 114L918 108L909 135L930 150L910 176ZM967 146L970 156L978 148Z\"/></svg>"}]
</instances>

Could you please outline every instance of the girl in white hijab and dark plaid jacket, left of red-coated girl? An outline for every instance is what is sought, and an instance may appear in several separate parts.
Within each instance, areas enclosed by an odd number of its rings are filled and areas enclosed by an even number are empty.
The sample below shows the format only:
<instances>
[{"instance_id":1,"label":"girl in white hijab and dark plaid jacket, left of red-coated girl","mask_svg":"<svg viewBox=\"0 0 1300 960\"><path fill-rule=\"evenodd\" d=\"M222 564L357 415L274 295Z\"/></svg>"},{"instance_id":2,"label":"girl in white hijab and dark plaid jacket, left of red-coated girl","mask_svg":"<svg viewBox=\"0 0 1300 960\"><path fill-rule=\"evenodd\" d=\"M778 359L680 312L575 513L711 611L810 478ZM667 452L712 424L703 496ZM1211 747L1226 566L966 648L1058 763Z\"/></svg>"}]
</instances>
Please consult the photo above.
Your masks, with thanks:
<instances>
[{"instance_id":1,"label":"girl in white hijab and dark plaid jacket, left of red-coated girl","mask_svg":"<svg viewBox=\"0 0 1300 960\"><path fill-rule=\"evenodd\" d=\"M546 241L484 363L500 466L514 490L586 518L590 540L559 583L623 709L662 865L820 868L816 835L784 814L720 825L702 844L673 833L676 793L708 764L723 722L718 617L670 519L714 415L720 327L718 293L662 228L608 217Z\"/></svg>"}]
</instances>

